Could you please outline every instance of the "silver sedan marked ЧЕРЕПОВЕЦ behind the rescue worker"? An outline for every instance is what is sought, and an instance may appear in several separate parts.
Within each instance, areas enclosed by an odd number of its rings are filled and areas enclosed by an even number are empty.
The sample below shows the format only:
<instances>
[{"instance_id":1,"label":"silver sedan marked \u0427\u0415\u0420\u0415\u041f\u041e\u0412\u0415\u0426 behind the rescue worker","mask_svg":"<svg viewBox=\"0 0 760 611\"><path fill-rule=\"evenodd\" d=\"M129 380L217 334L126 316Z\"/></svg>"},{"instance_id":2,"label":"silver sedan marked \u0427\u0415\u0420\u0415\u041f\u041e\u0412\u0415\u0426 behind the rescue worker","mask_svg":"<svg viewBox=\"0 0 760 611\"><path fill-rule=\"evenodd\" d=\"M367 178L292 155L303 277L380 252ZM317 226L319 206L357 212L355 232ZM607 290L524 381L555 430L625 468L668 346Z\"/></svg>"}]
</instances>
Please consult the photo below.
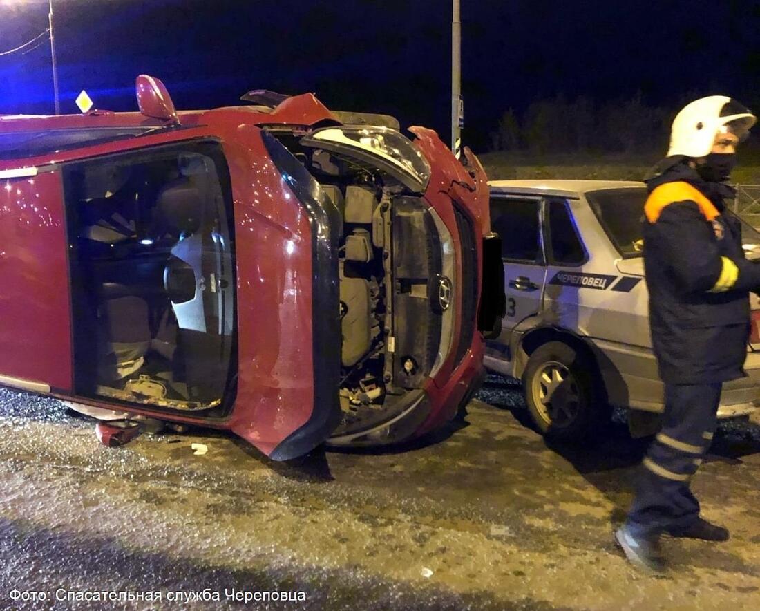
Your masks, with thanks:
<instances>
[{"instance_id":1,"label":"silver sedan marked \u0427\u0415\u0420\u0415\u041f\u041e\u0412\u0415\u0426 behind the rescue worker","mask_svg":"<svg viewBox=\"0 0 760 611\"><path fill-rule=\"evenodd\" d=\"M632 432L657 426L663 384L651 350L641 257L641 182L489 182L491 226L502 236L506 317L486 367L521 378L530 416L554 438L601 430L610 406L631 408ZM748 256L760 234L745 226ZM760 302L752 296L760 318ZM724 385L718 417L760 404L760 338L752 322L747 378ZM649 415L648 415L649 414Z\"/></svg>"}]
</instances>

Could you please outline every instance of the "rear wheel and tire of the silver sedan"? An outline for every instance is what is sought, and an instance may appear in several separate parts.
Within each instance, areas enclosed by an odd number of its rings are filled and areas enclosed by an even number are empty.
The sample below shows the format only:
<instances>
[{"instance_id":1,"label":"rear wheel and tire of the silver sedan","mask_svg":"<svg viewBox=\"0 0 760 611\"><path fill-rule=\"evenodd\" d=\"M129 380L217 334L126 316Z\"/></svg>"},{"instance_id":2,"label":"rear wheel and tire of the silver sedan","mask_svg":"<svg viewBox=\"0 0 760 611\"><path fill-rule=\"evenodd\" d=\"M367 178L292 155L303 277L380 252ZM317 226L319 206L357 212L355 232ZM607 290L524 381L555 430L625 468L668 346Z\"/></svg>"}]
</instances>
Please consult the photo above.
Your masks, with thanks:
<instances>
[{"instance_id":1,"label":"rear wheel and tire of the silver sedan","mask_svg":"<svg viewBox=\"0 0 760 611\"><path fill-rule=\"evenodd\" d=\"M604 428L604 393L594 380L594 362L561 341L544 343L530 354L522 382L536 428L561 442L587 440Z\"/></svg>"}]
</instances>

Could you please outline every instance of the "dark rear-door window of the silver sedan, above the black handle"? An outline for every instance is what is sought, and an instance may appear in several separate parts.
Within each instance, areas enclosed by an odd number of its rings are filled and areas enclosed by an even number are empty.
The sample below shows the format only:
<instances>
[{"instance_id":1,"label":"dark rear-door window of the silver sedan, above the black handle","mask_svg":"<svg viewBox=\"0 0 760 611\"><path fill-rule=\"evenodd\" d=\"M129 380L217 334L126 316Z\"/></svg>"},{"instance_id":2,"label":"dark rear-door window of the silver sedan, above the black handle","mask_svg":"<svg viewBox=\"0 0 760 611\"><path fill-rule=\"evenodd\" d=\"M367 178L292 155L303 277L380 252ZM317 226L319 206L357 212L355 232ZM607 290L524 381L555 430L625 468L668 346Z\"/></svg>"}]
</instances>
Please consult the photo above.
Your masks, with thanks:
<instances>
[{"instance_id":1,"label":"dark rear-door window of the silver sedan, above the black handle","mask_svg":"<svg viewBox=\"0 0 760 611\"><path fill-rule=\"evenodd\" d=\"M502 237L502 258L539 260L538 200L491 198L491 228Z\"/></svg>"}]
</instances>

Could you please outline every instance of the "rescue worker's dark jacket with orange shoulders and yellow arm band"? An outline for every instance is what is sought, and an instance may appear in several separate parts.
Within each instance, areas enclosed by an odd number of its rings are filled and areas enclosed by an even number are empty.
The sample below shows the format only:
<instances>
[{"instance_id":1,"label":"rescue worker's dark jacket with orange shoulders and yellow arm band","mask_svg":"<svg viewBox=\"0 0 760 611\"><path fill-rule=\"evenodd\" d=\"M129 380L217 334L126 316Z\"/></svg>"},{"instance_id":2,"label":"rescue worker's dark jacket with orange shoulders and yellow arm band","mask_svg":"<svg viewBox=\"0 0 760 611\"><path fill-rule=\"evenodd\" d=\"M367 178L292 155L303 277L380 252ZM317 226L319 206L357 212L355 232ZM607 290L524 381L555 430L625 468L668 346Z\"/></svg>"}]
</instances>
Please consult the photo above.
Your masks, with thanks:
<instances>
[{"instance_id":1,"label":"rescue worker's dark jacket with orange shoulders and yellow arm band","mask_svg":"<svg viewBox=\"0 0 760 611\"><path fill-rule=\"evenodd\" d=\"M666 384L733 380L749 339L749 290L760 266L744 257L726 185L685 162L647 182L644 270L654 355Z\"/></svg>"}]
</instances>

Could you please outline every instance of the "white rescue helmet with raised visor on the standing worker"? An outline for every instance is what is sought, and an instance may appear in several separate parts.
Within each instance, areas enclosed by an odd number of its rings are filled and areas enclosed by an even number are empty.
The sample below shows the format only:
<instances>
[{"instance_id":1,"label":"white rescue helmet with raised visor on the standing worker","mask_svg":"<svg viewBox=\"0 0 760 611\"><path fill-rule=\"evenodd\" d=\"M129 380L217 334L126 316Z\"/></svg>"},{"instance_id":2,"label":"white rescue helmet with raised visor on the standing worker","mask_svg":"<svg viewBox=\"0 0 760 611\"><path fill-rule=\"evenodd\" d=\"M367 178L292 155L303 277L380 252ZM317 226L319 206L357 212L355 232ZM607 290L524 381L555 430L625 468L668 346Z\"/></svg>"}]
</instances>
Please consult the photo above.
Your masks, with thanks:
<instances>
[{"instance_id":1,"label":"white rescue helmet with raised visor on the standing worker","mask_svg":"<svg viewBox=\"0 0 760 611\"><path fill-rule=\"evenodd\" d=\"M686 104L673 119L667 157L705 157L720 131L746 138L757 118L745 106L726 96L701 97Z\"/></svg>"}]
</instances>

